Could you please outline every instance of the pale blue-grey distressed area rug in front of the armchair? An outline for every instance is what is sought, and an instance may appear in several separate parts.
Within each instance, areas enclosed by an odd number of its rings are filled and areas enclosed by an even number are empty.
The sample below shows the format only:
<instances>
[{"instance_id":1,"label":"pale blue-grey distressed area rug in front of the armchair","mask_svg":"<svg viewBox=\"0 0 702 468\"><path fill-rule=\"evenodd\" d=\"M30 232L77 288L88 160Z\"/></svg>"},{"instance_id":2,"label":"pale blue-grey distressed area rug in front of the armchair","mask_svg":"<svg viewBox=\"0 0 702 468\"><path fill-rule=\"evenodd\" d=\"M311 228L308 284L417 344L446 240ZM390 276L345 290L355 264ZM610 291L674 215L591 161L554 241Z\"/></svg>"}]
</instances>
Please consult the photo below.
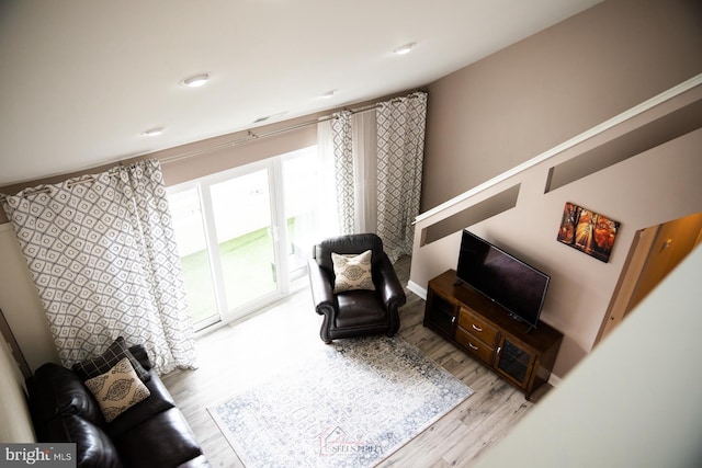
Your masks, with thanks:
<instances>
[{"instance_id":1,"label":"pale blue-grey distressed area rug in front of the armchair","mask_svg":"<svg viewBox=\"0 0 702 468\"><path fill-rule=\"evenodd\" d=\"M247 467L372 467L473 390L399 336L338 340L208 408Z\"/></svg>"}]
</instances>

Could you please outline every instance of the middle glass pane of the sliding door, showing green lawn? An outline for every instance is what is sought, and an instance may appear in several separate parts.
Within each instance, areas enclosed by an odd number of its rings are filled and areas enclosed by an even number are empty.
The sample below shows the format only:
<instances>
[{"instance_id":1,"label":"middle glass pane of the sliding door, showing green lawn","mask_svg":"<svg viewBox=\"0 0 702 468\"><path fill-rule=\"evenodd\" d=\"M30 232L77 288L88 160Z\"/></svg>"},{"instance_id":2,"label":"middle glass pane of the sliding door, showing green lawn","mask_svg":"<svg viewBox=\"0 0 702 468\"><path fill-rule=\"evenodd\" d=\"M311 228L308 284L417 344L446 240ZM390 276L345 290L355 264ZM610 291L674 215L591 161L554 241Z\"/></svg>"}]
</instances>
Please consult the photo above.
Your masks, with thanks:
<instances>
[{"instance_id":1,"label":"middle glass pane of the sliding door, showing green lawn","mask_svg":"<svg viewBox=\"0 0 702 468\"><path fill-rule=\"evenodd\" d=\"M212 185L229 310L278 288L268 179L268 171L260 170Z\"/></svg>"}]
</instances>

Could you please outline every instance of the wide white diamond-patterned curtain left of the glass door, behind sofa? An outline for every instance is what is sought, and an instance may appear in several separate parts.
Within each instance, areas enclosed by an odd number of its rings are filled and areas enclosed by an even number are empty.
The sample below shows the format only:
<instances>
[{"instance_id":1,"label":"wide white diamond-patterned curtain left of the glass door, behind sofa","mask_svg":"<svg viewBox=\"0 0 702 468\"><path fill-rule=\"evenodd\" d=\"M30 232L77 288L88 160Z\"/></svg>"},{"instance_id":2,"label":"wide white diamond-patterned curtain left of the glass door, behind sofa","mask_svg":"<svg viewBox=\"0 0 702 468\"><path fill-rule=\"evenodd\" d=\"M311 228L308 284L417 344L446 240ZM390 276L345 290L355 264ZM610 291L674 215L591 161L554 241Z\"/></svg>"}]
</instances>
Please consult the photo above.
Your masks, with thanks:
<instances>
[{"instance_id":1,"label":"wide white diamond-patterned curtain left of the glass door, behind sofa","mask_svg":"<svg viewBox=\"0 0 702 468\"><path fill-rule=\"evenodd\" d=\"M166 187L156 160L2 196L61 362L117 336L163 374L195 366Z\"/></svg>"}]
</instances>

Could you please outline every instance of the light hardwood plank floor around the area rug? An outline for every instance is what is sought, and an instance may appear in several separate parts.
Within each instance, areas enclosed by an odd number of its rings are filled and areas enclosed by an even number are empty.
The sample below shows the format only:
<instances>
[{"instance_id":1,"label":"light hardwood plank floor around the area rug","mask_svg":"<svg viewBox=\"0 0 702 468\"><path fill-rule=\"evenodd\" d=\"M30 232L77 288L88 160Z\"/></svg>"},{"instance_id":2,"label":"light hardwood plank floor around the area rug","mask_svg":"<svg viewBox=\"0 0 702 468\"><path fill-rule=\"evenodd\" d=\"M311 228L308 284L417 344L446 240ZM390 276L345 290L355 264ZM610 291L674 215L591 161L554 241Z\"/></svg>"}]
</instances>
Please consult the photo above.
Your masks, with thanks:
<instances>
[{"instance_id":1,"label":"light hardwood plank floor around the area rug","mask_svg":"<svg viewBox=\"0 0 702 468\"><path fill-rule=\"evenodd\" d=\"M403 284L409 259L396 271ZM475 393L423 431L380 467L469 466L533 407L523 393L422 326L424 300L407 293L400 335L468 385ZM306 353L326 346L308 288L236 324L197 339L197 370L177 370L163 383L190 422L213 467L242 467L206 408L275 376ZM532 396L537 401L547 386Z\"/></svg>"}]
</instances>

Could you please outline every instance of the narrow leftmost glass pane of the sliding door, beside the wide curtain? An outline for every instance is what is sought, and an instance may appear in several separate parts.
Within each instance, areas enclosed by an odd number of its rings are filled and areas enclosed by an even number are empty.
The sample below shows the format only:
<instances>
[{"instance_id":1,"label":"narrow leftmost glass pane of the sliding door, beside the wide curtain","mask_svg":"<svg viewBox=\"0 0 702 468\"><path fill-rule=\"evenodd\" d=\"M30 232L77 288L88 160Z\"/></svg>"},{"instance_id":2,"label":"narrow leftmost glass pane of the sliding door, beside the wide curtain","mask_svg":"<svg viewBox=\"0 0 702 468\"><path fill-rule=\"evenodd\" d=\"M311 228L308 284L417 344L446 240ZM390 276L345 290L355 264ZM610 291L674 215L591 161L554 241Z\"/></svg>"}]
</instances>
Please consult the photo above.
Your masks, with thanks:
<instances>
[{"instance_id":1,"label":"narrow leftmost glass pane of the sliding door, beside the wide curtain","mask_svg":"<svg viewBox=\"0 0 702 468\"><path fill-rule=\"evenodd\" d=\"M197 189L168 195L193 323L218 319Z\"/></svg>"}]
</instances>

